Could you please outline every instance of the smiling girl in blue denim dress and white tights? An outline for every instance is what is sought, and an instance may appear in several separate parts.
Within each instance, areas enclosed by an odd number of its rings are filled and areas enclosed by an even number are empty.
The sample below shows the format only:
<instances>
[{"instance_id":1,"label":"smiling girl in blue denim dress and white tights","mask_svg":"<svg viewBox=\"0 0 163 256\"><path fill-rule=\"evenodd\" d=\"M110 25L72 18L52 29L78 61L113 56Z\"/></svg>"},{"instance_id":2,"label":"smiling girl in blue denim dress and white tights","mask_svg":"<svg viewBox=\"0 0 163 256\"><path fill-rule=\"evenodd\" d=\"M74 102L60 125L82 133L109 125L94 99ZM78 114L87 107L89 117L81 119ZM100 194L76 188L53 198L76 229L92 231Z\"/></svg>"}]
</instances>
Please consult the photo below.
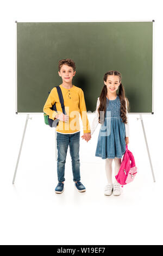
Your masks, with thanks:
<instances>
[{"instance_id":1,"label":"smiling girl in blue denim dress and white tights","mask_svg":"<svg viewBox=\"0 0 163 256\"><path fill-rule=\"evenodd\" d=\"M99 131L96 156L105 159L105 171L108 184L105 196L120 196L121 185L115 180L112 184L112 160L115 162L115 175L121 166L122 155L129 143L128 99L125 97L122 76L118 71L108 71L104 75L104 87L97 100L96 117L93 119L91 135L98 123ZM118 94L117 94L118 90Z\"/></svg>"}]
</instances>

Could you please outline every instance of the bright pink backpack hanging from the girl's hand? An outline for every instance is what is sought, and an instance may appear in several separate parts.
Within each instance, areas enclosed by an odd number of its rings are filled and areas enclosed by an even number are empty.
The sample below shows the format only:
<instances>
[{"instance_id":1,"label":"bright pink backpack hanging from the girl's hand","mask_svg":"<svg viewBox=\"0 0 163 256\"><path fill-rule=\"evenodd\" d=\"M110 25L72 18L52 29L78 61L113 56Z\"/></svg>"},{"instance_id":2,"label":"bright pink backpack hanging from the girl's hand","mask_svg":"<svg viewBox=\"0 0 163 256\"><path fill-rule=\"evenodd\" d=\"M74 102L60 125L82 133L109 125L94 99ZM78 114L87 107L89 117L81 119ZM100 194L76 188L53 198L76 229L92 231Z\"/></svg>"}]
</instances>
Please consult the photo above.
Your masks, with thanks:
<instances>
[{"instance_id":1,"label":"bright pink backpack hanging from the girl's hand","mask_svg":"<svg viewBox=\"0 0 163 256\"><path fill-rule=\"evenodd\" d=\"M135 166L134 156L131 151L128 150L126 145L126 152L124 153L120 170L115 178L123 187L123 185L126 185L134 180L136 173L137 167Z\"/></svg>"}]
</instances>

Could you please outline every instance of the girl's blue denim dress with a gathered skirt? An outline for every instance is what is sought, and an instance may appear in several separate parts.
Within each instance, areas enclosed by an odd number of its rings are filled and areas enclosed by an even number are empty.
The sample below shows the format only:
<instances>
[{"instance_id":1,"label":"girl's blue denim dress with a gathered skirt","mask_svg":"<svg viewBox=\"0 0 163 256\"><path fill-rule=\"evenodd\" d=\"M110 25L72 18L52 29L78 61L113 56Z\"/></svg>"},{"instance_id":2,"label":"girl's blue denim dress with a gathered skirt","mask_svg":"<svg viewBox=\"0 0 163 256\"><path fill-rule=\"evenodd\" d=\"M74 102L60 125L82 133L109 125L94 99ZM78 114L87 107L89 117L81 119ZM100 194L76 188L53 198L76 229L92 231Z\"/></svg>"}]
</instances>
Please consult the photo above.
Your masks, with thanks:
<instances>
[{"instance_id":1,"label":"girl's blue denim dress with a gathered skirt","mask_svg":"<svg viewBox=\"0 0 163 256\"><path fill-rule=\"evenodd\" d=\"M102 159L122 158L125 151L125 125L122 122L121 102L117 95L115 100L106 98L105 119L99 131L96 156Z\"/></svg>"}]
</instances>

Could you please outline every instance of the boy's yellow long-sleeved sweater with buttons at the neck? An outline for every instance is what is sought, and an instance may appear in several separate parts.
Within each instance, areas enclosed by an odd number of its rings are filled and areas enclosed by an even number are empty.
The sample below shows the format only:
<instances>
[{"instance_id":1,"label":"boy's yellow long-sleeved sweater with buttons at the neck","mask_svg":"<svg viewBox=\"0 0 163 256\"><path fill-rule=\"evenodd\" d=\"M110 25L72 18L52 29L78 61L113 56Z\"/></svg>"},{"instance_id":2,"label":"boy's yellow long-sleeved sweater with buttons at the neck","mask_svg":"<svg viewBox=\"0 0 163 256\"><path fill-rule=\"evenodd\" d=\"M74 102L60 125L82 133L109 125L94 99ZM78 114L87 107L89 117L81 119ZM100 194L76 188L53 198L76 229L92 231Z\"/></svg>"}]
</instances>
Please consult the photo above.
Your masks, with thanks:
<instances>
[{"instance_id":1,"label":"boy's yellow long-sleeved sweater with buttons at the neck","mask_svg":"<svg viewBox=\"0 0 163 256\"><path fill-rule=\"evenodd\" d=\"M74 133L80 131L79 114L82 118L84 133L91 132L89 121L87 119L86 106L84 100L83 90L79 87L72 86L66 89L59 86L64 98L64 105L66 114L69 116L68 122L59 121L56 131L61 133ZM52 105L56 104L57 112L51 109ZM55 115L62 113L62 108L59 101L57 89L54 87L49 94L47 101L43 107L43 112L49 115L49 118L55 119Z\"/></svg>"}]
</instances>

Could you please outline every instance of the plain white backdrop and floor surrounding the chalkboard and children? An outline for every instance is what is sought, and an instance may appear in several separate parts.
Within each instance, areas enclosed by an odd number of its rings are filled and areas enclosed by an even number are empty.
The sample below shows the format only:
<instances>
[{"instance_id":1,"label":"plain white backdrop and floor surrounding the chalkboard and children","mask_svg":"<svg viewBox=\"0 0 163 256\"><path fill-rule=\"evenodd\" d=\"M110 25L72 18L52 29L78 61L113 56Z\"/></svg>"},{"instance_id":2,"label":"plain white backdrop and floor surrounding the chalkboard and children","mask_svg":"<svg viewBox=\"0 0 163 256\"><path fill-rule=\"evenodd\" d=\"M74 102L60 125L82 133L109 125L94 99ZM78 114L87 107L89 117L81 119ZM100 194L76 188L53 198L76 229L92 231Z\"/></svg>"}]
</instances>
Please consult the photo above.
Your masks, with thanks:
<instances>
[{"instance_id":1,"label":"plain white backdrop and floor surrounding the chalkboard and children","mask_svg":"<svg viewBox=\"0 0 163 256\"><path fill-rule=\"evenodd\" d=\"M0 19L1 245L162 245L161 1L2 1ZM143 120L156 182L152 179L141 121L136 119L139 115L129 115L129 149L139 170L133 184L124 187L120 197L104 196L104 161L95 157L98 127L89 143L80 142L81 181L86 192L79 193L74 188L68 154L65 191L55 194L54 130L43 123L41 114L37 114L28 121L13 186L12 177L26 121L26 115L15 114L15 21L153 19L154 115L143 115ZM93 115L89 115L90 123L92 118Z\"/></svg>"}]
</instances>

